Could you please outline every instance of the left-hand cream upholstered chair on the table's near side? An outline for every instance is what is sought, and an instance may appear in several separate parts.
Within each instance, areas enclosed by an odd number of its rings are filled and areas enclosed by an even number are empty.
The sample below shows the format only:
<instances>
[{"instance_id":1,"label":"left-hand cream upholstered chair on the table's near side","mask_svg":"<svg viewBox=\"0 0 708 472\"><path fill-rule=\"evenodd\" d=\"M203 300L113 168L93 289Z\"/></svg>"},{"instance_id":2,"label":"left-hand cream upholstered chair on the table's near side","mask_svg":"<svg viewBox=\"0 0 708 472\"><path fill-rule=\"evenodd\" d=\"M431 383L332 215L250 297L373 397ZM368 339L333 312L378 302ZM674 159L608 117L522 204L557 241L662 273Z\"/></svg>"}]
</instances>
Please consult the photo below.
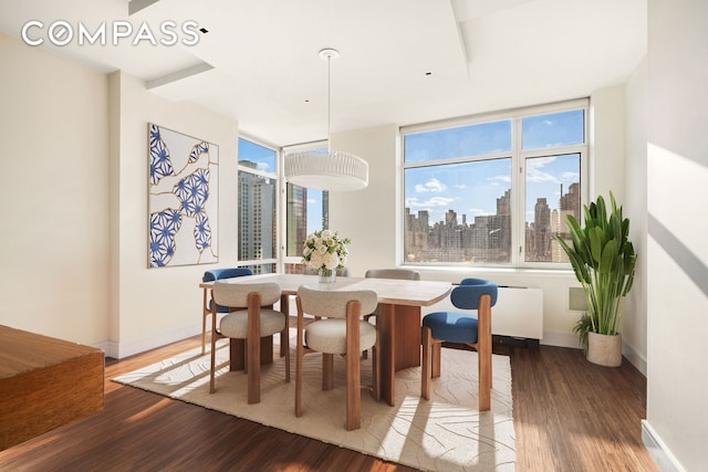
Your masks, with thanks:
<instances>
[{"instance_id":1,"label":"left-hand cream upholstered chair on the table's near side","mask_svg":"<svg viewBox=\"0 0 708 472\"><path fill-rule=\"evenodd\" d=\"M216 391L216 340L219 337L246 339L246 371L248 376L248 402L261 401L261 338L281 333L285 343L285 381L290 381L290 346L288 316L270 306L280 300L280 285L267 283L228 283L216 281L211 305L211 371L209 392ZM221 318L217 329L216 305L239 307Z\"/></svg>"}]
</instances>

